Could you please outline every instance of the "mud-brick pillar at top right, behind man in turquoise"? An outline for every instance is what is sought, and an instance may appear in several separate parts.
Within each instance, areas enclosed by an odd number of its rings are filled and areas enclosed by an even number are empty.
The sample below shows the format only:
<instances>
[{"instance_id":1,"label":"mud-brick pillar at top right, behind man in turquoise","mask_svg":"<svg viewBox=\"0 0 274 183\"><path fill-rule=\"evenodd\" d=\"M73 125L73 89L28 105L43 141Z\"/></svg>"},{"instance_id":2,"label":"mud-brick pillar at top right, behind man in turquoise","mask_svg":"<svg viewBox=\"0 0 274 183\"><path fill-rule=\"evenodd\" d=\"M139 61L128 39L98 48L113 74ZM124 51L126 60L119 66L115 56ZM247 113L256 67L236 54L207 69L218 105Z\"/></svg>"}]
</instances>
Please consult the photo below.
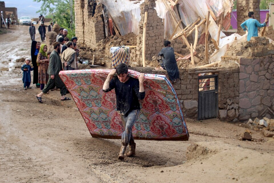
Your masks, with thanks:
<instances>
[{"instance_id":1,"label":"mud-brick pillar at top right, behind man in turquoise","mask_svg":"<svg viewBox=\"0 0 274 183\"><path fill-rule=\"evenodd\" d=\"M248 12L253 11L255 18L260 21L260 0L237 0L237 33L245 34L241 28L241 23L249 19Z\"/></svg>"}]
</instances>

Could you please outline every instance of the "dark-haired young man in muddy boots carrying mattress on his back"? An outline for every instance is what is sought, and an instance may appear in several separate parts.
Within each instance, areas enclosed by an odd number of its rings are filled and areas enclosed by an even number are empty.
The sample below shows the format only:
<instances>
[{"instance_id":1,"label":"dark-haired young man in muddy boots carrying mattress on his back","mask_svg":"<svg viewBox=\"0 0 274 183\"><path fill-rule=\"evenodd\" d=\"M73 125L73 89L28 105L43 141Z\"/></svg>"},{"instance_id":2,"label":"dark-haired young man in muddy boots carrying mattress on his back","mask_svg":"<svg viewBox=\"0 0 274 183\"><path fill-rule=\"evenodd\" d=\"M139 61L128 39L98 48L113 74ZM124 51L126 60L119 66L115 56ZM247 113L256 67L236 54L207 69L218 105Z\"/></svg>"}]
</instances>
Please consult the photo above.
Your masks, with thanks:
<instances>
[{"instance_id":1,"label":"dark-haired young man in muddy boots carrying mattress on his back","mask_svg":"<svg viewBox=\"0 0 274 183\"><path fill-rule=\"evenodd\" d=\"M115 73L117 73L117 76L113 77ZM144 81L144 73L141 73L138 79L129 77L128 66L121 63L116 69L110 71L103 85L104 92L115 89L117 112L120 114L125 128L122 134L119 160L124 160L124 156L135 155L136 144L132 136L132 127L140 113L138 99L143 100L145 98ZM129 145L130 151L125 154L127 145Z\"/></svg>"}]
</instances>

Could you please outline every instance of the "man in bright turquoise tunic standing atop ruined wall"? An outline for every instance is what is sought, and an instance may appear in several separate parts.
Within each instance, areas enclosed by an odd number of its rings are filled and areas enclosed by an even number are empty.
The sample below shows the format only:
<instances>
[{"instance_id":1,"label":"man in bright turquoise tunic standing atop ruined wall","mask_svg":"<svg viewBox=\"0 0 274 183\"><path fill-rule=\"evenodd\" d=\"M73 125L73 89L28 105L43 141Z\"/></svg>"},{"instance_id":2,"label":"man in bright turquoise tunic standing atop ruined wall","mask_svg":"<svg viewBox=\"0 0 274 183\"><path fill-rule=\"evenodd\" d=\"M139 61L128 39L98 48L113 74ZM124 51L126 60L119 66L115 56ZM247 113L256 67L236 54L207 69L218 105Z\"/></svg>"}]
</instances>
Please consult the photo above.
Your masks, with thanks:
<instances>
[{"instance_id":1,"label":"man in bright turquoise tunic standing atop ruined wall","mask_svg":"<svg viewBox=\"0 0 274 183\"><path fill-rule=\"evenodd\" d=\"M247 41L250 41L251 37L258 36L258 27L265 27L268 21L264 23L260 23L258 20L255 19L255 15L253 11L248 12L248 17L246 21L241 24L241 27L244 31L247 32Z\"/></svg>"}]
</instances>

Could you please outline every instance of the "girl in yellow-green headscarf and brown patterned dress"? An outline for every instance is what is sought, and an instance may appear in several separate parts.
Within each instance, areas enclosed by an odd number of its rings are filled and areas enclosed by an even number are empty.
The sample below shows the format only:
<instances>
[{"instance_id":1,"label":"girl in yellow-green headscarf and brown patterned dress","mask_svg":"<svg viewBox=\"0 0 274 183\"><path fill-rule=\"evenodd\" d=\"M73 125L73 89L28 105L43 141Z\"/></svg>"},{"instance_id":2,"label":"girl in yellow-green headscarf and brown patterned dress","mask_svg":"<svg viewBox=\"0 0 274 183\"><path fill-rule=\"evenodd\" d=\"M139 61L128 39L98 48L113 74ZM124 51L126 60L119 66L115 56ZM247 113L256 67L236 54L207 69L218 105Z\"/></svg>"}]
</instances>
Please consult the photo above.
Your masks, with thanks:
<instances>
[{"instance_id":1,"label":"girl in yellow-green headscarf and brown patterned dress","mask_svg":"<svg viewBox=\"0 0 274 183\"><path fill-rule=\"evenodd\" d=\"M43 90L45 84L47 84L49 80L48 75L48 67L49 67L49 59L47 56L47 45L42 44L37 55L37 65L38 65L38 83L40 83L40 89Z\"/></svg>"}]
</instances>

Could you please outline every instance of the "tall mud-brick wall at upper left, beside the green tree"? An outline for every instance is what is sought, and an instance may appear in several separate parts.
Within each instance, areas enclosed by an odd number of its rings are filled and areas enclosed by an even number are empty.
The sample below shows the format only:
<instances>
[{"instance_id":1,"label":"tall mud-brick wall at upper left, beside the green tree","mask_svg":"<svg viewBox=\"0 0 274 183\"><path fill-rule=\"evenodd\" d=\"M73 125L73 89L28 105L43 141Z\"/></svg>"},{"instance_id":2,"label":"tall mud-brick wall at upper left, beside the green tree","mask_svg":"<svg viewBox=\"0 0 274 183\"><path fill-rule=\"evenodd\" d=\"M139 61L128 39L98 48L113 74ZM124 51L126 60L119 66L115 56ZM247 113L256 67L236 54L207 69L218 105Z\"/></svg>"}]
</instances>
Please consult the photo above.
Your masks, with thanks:
<instances>
[{"instance_id":1,"label":"tall mud-brick wall at upper left, beside the green tree","mask_svg":"<svg viewBox=\"0 0 274 183\"><path fill-rule=\"evenodd\" d=\"M74 4L76 37L80 43L96 48L105 38L102 4L94 0L75 0Z\"/></svg>"}]
</instances>

